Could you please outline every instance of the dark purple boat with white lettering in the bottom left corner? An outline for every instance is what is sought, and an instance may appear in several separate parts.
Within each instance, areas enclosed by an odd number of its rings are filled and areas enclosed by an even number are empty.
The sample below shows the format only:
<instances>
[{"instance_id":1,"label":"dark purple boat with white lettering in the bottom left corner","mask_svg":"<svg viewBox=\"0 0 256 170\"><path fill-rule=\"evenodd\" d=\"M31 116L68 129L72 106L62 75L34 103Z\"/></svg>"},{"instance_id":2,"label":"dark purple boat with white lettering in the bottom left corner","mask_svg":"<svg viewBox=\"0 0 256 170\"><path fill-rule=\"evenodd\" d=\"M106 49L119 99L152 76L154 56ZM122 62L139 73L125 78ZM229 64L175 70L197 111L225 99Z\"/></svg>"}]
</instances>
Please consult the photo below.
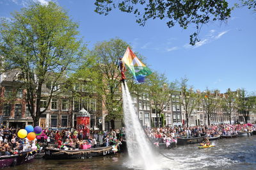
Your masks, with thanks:
<instances>
[{"instance_id":1,"label":"dark purple boat with white lettering in the bottom left corner","mask_svg":"<svg viewBox=\"0 0 256 170\"><path fill-rule=\"evenodd\" d=\"M0 168L29 163L35 158L35 153L36 151L24 151L14 155L3 155L0 157Z\"/></svg>"}]
</instances>

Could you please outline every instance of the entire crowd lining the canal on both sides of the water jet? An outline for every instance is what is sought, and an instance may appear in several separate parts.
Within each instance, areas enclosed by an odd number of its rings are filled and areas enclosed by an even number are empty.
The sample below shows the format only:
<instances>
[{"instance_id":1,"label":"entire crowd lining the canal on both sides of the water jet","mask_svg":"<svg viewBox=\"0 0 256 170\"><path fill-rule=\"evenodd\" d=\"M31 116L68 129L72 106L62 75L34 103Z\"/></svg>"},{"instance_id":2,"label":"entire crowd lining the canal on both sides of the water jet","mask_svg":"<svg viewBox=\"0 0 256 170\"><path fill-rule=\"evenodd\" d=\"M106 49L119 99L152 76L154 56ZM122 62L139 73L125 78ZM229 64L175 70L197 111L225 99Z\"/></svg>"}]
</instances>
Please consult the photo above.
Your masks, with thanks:
<instances>
[{"instance_id":1,"label":"entire crowd lining the canal on both sides of the water jet","mask_svg":"<svg viewBox=\"0 0 256 170\"><path fill-rule=\"evenodd\" d=\"M237 132L248 132L256 130L256 125L234 124L234 125L200 125L195 127L145 127L148 137L154 143L177 143L177 137L186 138L200 137L206 134L207 137L216 135L233 135ZM62 130L44 129L40 138L29 141L27 138L17 137L19 129L0 128L0 155L12 155L26 150L44 150L45 147L55 147L61 150L97 148L109 146L125 139L125 128L115 130L77 130L76 128L66 128ZM86 149L86 148L85 148Z\"/></svg>"}]
</instances>

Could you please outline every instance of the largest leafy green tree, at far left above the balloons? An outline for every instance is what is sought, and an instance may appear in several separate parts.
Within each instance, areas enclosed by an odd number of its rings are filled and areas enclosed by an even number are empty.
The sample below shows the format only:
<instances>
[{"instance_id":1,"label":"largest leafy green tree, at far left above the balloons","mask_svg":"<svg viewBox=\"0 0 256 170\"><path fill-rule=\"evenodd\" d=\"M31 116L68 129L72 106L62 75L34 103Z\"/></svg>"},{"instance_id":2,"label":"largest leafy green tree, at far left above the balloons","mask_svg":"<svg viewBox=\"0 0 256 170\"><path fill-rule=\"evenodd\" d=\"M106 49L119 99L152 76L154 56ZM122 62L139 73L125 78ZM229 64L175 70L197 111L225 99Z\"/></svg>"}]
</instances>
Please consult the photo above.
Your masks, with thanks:
<instances>
[{"instance_id":1,"label":"largest leafy green tree, at far left above the balloons","mask_svg":"<svg viewBox=\"0 0 256 170\"><path fill-rule=\"evenodd\" d=\"M77 24L55 3L33 3L13 18L1 20L0 56L6 69L18 68L23 75L28 109L35 125L49 106L51 98L61 91L66 74L83 56L84 46L77 40ZM76 65L75 65L76 66ZM40 111L43 84L49 82L49 100Z\"/></svg>"}]
</instances>

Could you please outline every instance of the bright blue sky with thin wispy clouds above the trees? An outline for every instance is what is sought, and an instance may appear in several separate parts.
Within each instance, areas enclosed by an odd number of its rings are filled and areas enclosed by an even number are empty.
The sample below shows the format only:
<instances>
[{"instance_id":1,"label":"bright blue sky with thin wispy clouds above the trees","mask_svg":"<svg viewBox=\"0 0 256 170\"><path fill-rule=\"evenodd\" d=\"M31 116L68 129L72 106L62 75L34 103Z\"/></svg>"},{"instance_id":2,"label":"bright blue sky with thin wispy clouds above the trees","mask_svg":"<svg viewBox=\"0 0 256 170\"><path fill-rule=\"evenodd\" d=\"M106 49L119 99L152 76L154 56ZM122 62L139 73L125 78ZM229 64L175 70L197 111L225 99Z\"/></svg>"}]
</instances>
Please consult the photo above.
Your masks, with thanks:
<instances>
[{"instance_id":1,"label":"bright blue sky with thin wispy clouds above the trees","mask_svg":"<svg viewBox=\"0 0 256 170\"><path fill-rule=\"evenodd\" d=\"M33 0L47 3L46 0ZM29 0L0 0L0 16L28 5ZM88 48L96 42L121 38L133 50L147 58L150 68L165 73L170 81L187 77L195 89L256 91L256 13L247 8L232 11L227 22L214 22L202 27L200 42L189 45L193 26L168 28L164 20L149 20L139 26L132 14L114 10L99 15L90 0L58 0L68 15L79 23Z\"/></svg>"}]
</instances>

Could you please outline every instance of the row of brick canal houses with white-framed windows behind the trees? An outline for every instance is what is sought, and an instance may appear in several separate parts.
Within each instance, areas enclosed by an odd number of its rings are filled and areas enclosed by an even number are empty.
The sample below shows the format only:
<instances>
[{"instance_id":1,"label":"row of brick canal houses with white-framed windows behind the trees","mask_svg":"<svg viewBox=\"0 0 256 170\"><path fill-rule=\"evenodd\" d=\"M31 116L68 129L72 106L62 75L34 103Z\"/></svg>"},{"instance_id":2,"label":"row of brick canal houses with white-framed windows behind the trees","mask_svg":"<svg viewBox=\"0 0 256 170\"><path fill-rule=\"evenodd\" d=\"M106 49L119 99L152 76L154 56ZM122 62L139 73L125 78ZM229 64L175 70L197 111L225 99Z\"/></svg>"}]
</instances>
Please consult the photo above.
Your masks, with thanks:
<instances>
[{"instance_id":1,"label":"row of brick canal houses with white-framed windows behind the trees","mask_svg":"<svg viewBox=\"0 0 256 170\"><path fill-rule=\"evenodd\" d=\"M0 74L0 123L6 127L24 127L25 125L32 125L33 119L28 111L26 103L26 89L22 88L22 81L20 81L19 71L10 71ZM47 98L49 88L44 84L42 92L45 98L40 102L40 109L46 111L40 116L39 124L44 128L70 128L76 127L76 115L82 109L86 109L91 115L90 127L94 129L105 130L109 129L109 122L105 121L106 111L101 98L95 93L95 88L84 88L83 84L74 84L74 91L83 93L80 97L70 97L70 95L60 95L53 97L51 101ZM90 91L88 91L90 90ZM95 95L86 95L90 92ZM200 91L197 91L200 93ZM185 112L180 105L180 93L174 93L172 100L166 105L161 114L156 115L156 109L152 109L152 102L147 93L143 93L132 98L134 107L138 111L138 118L145 126L156 127L157 117L159 126L181 126L186 124ZM50 104L48 105L48 102ZM47 107L48 105L48 107ZM46 108L47 107L47 108ZM232 114L232 123L243 123L243 116L237 112ZM255 122L255 114L250 114L250 122ZM212 113L211 123L229 123L227 114L223 113L221 109ZM207 114L200 106L196 107L189 118L189 125L207 125ZM122 120L116 120L115 127L120 128L124 126Z\"/></svg>"}]
</instances>

